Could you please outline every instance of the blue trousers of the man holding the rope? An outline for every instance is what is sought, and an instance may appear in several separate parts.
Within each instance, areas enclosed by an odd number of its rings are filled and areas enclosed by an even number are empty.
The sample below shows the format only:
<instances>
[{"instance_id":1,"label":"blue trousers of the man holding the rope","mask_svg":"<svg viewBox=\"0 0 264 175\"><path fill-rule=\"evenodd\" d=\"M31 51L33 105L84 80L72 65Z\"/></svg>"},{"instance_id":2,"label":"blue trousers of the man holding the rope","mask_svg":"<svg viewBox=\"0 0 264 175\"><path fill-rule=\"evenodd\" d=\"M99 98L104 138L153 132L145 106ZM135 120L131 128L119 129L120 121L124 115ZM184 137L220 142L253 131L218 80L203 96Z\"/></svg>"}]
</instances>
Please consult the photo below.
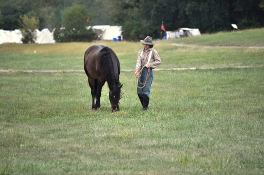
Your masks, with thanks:
<instances>
[{"instance_id":1,"label":"blue trousers of the man holding the rope","mask_svg":"<svg viewBox=\"0 0 264 175\"><path fill-rule=\"evenodd\" d=\"M141 76L139 77L139 80L141 83L145 82L146 77L147 77L147 73L148 73L148 68L146 68L146 67L143 68L143 70L141 72ZM147 81L145 87L139 88L139 87L142 87L143 85L138 82L137 93L140 95L146 94L149 97L152 80L153 80L153 71L152 71L152 69L150 69L150 75L149 75L149 78L148 78L148 81Z\"/></svg>"}]
</instances>

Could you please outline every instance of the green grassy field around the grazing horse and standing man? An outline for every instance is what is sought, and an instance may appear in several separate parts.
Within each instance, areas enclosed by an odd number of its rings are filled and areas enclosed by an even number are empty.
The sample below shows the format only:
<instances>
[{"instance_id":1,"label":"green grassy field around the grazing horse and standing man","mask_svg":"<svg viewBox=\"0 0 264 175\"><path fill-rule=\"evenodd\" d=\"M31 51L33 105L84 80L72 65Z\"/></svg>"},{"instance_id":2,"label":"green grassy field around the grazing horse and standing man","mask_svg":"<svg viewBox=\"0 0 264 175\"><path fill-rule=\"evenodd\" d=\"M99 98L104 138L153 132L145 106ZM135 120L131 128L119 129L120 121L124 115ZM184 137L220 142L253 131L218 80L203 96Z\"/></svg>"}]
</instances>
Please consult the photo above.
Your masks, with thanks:
<instances>
[{"instance_id":1,"label":"green grassy field around the grazing horse and standing man","mask_svg":"<svg viewBox=\"0 0 264 175\"><path fill-rule=\"evenodd\" d=\"M0 45L0 174L264 174L263 36L155 40L148 111L133 71L140 42ZM120 59L119 112L107 86L91 110L82 70L92 44Z\"/></svg>"}]
</instances>

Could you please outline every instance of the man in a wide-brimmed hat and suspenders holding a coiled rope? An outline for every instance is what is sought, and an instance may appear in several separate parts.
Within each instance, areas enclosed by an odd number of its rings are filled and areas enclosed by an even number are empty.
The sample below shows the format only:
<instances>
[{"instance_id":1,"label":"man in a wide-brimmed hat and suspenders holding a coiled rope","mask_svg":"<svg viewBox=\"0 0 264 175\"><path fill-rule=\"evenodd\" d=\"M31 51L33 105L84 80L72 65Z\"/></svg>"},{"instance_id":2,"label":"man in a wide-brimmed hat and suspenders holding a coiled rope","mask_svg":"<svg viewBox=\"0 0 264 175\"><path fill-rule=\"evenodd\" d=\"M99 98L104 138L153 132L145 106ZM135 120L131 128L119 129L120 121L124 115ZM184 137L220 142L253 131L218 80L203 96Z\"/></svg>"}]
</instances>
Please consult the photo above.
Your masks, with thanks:
<instances>
[{"instance_id":1,"label":"man in a wide-brimmed hat and suspenders holding a coiled rope","mask_svg":"<svg viewBox=\"0 0 264 175\"><path fill-rule=\"evenodd\" d=\"M144 48L138 52L135 76L138 77L137 94L143 106L143 110L148 110L150 88L153 80L152 69L161 64L161 59L157 50L153 48L152 37L147 36L140 40Z\"/></svg>"}]
</instances>

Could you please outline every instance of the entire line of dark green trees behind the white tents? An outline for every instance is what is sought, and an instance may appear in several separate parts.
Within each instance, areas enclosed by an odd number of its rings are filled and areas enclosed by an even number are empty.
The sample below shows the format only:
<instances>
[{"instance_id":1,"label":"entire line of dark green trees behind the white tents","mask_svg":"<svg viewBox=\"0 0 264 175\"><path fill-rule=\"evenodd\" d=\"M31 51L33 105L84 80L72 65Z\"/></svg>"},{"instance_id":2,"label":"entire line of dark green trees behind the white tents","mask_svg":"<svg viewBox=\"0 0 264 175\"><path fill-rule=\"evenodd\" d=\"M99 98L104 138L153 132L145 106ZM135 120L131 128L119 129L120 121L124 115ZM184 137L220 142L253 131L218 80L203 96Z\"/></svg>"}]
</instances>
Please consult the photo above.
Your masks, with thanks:
<instances>
[{"instance_id":1,"label":"entire line of dark green trees behind the white tents","mask_svg":"<svg viewBox=\"0 0 264 175\"><path fill-rule=\"evenodd\" d=\"M162 21L166 30L211 33L231 30L231 23L239 29L262 27L263 16L264 0L0 0L1 29L27 28L25 19L34 18L39 29L64 27L57 30L61 41L92 37L88 25L122 25L124 39L139 40L160 37Z\"/></svg>"}]
</instances>

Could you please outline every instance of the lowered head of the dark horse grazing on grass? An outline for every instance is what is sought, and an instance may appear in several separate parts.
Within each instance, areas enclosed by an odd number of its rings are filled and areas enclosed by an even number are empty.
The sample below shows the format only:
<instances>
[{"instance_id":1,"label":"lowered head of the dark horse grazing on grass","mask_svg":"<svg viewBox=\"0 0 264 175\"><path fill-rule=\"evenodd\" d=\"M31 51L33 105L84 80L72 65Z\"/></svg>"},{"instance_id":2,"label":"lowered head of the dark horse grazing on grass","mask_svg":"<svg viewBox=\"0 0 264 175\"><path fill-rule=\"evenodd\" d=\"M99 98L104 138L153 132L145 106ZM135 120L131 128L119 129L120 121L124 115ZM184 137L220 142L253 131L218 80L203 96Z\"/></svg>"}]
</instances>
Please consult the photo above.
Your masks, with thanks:
<instances>
[{"instance_id":1,"label":"lowered head of the dark horse grazing on grass","mask_svg":"<svg viewBox=\"0 0 264 175\"><path fill-rule=\"evenodd\" d=\"M122 85L119 85L118 87L113 87L112 89L110 89L109 91L109 99L110 99L110 103L112 105L112 109L111 111L117 111L119 110L119 100L121 99L121 87Z\"/></svg>"}]
</instances>

